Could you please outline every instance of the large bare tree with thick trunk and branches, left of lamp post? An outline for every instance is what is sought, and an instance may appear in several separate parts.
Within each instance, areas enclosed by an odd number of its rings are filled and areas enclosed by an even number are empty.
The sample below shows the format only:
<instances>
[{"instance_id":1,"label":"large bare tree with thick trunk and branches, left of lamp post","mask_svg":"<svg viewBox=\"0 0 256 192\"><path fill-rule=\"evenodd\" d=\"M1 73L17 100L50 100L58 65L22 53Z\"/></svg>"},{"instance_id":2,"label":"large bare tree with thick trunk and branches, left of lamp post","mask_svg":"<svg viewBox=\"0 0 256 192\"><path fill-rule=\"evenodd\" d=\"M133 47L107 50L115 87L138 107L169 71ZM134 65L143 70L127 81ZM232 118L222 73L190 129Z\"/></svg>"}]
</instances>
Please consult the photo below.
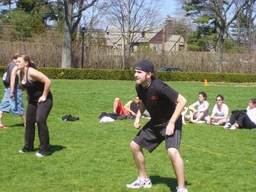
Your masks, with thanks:
<instances>
[{"instance_id":1,"label":"large bare tree with thick trunk and branches, left of lamp post","mask_svg":"<svg viewBox=\"0 0 256 192\"><path fill-rule=\"evenodd\" d=\"M62 43L62 57L61 67L71 68L71 43L72 34L74 33L78 23L82 17L82 11L90 8L97 2L97 0L64 0L64 26L63 26L63 43ZM78 3L78 12L73 13L74 4ZM74 20L76 19L76 20Z\"/></svg>"}]
</instances>

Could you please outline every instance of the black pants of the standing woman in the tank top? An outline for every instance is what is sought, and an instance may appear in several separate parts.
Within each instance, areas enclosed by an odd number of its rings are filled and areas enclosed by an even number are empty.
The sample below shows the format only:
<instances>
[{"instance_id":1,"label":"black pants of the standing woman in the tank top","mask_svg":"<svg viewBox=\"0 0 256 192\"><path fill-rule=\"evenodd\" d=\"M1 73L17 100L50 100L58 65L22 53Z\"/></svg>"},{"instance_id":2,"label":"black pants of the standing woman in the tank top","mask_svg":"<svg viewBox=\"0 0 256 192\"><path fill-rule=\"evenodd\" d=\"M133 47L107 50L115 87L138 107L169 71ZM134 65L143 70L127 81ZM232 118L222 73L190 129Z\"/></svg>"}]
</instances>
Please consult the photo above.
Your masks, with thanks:
<instances>
[{"instance_id":1,"label":"black pants of the standing woman in the tank top","mask_svg":"<svg viewBox=\"0 0 256 192\"><path fill-rule=\"evenodd\" d=\"M23 150L34 150L36 123L40 141L39 153L46 154L50 152L50 138L46 120L52 107L52 97L47 97L44 103L34 101L28 103L26 114L25 145Z\"/></svg>"}]
</instances>

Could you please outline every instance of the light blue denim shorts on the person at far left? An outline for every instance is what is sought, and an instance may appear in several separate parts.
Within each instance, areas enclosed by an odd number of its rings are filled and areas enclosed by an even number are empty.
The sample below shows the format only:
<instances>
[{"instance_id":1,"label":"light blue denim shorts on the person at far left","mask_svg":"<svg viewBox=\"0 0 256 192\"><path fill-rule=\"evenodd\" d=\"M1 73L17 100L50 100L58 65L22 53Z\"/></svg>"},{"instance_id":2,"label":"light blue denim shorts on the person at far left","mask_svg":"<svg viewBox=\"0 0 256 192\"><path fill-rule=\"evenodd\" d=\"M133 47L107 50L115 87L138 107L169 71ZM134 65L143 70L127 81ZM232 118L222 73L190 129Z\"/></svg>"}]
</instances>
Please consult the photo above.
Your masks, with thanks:
<instances>
[{"instance_id":1,"label":"light blue denim shorts on the person at far left","mask_svg":"<svg viewBox=\"0 0 256 192\"><path fill-rule=\"evenodd\" d=\"M10 98L11 88L6 87L4 89L4 95L2 103L0 104L0 111L9 113L10 111L14 115L23 115L24 107L23 107L23 97L22 91L20 88L14 89L14 97Z\"/></svg>"}]
</instances>

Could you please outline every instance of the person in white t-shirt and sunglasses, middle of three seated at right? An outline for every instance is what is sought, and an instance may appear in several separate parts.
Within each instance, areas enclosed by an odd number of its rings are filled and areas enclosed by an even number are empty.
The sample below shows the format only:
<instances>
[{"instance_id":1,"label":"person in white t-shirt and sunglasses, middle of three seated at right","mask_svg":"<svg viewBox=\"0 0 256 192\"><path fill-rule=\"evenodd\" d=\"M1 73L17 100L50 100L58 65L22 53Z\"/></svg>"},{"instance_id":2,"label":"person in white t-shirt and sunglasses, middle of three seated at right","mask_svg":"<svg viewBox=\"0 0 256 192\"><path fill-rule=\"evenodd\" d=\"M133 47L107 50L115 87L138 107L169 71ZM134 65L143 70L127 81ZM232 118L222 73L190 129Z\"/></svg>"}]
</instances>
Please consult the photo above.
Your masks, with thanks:
<instances>
[{"instance_id":1,"label":"person in white t-shirt and sunglasses, middle of three seated at right","mask_svg":"<svg viewBox=\"0 0 256 192\"><path fill-rule=\"evenodd\" d=\"M224 97L217 95L217 104L212 109L211 117L206 117L207 124L225 125L228 122L228 106L223 103ZM217 115L216 115L217 114Z\"/></svg>"}]
</instances>

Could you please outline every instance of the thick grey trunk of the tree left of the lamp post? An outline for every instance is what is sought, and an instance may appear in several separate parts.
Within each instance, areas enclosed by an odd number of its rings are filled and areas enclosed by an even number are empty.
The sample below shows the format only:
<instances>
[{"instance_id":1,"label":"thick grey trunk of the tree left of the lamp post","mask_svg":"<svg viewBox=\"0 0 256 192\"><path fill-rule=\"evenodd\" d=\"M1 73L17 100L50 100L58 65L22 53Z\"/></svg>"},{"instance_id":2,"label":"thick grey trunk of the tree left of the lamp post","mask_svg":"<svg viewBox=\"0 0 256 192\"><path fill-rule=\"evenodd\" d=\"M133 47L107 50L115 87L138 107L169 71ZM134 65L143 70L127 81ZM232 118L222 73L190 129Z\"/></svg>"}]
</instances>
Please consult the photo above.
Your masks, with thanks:
<instances>
[{"instance_id":1,"label":"thick grey trunk of the tree left of the lamp post","mask_svg":"<svg viewBox=\"0 0 256 192\"><path fill-rule=\"evenodd\" d=\"M66 1L64 1L65 3ZM67 2L64 6L64 11L67 11L67 14L65 14L63 26L61 68L71 68L72 10L73 4Z\"/></svg>"}]
</instances>

